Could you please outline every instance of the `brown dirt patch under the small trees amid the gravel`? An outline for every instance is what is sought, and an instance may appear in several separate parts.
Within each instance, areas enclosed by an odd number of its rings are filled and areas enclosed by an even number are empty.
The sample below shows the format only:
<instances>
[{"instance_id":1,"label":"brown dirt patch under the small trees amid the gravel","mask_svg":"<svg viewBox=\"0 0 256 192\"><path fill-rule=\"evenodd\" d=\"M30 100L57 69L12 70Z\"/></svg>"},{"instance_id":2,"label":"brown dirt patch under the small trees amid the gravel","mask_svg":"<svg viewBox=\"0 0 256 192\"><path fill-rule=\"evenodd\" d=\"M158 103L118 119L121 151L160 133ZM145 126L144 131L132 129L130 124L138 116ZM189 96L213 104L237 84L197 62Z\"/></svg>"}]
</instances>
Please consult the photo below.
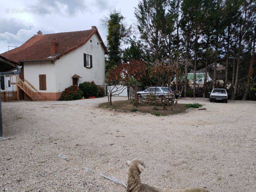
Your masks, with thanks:
<instances>
[{"instance_id":1,"label":"brown dirt patch under the small trees amid the gravel","mask_svg":"<svg viewBox=\"0 0 256 192\"><path fill-rule=\"evenodd\" d=\"M112 105L108 105L108 103L101 103L99 105L100 108L112 108L123 111L130 112L142 112L142 113L150 113L156 116L166 116L173 115L178 113L184 113L188 109L186 104L177 103L174 108L171 110L171 105L166 106L168 110L164 110L160 105L140 105L138 108L132 105L130 100L122 100L122 101L113 101Z\"/></svg>"}]
</instances>

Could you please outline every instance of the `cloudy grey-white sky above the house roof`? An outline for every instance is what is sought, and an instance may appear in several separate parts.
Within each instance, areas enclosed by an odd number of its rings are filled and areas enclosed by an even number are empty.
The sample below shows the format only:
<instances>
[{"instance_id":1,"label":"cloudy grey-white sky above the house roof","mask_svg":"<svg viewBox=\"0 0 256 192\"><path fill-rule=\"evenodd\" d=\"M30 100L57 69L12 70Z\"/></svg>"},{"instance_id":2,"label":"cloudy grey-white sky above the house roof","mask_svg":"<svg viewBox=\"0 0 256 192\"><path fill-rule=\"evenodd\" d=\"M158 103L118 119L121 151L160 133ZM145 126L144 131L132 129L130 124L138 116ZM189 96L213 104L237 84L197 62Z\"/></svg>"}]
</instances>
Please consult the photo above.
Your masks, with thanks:
<instances>
[{"instance_id":1,"label":"cloudy grey-white sky above the house roof","mask_svg":"<svg viewBox=\"0 0 256 192\"><path fill-rule=\"evenodd\" d=\"M96 26L106 42L107 29L100 19L115 8L130 25L137 4L138 0L0 0L0 53L8 51L8 45L20 46L38 30L48 34Z\"/></svg>"}]
</instances>

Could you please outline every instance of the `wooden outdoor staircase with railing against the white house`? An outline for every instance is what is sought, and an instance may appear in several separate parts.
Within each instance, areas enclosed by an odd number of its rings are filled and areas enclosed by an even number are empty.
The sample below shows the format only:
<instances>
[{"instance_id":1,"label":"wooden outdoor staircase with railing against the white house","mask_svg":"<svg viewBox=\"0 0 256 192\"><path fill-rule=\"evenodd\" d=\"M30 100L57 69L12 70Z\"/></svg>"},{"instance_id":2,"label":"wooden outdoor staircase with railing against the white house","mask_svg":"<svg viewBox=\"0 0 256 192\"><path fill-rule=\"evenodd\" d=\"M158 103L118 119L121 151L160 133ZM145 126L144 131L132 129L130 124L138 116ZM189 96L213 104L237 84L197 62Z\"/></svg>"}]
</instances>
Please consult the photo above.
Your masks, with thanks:
<instances>
[{"instance_id":1,"label":"wooden outdoor staircase with railing against the white house","mask_svg":"<svg viewBox=\"0 0 256 192\"><path fill-rule=\"evenodd\" d=\"M16 82L12 82L11 76L15 76ZM33 101L37 100L36 93L32 91L30 87L28 87L27 84L25 84L20 77L17 75L10 75L10 84L16 85L17 86L17 91L18 91L18 98L19 98L19 89L18 87L23 90Z\"/></svg>"}]
</instances>

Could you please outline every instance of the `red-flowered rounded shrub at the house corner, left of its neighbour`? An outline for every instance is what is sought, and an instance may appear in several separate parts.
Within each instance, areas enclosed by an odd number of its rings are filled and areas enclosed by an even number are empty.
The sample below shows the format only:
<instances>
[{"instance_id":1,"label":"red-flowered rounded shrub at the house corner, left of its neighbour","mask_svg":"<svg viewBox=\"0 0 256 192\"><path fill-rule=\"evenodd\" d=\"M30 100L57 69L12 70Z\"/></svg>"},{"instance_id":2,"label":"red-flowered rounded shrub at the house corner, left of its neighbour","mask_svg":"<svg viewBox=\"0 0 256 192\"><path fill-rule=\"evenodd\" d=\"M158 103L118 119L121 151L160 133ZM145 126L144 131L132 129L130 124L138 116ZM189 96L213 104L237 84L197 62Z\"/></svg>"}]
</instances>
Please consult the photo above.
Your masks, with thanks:
<instances>
[{"instance_id":1,"label":"red-flowered rounded shrub at the house corner, left of its neighbour","mask_svg":"<svg viewBox=\"0 0 256 192\"><path fill-rule=\"evenodd\" d=\"M83 96L83 92L79 89L77 85L72 85L68 88L66 88L60 96L60 100L77 100L81 99Z\"/></svg>"}]
</instances>

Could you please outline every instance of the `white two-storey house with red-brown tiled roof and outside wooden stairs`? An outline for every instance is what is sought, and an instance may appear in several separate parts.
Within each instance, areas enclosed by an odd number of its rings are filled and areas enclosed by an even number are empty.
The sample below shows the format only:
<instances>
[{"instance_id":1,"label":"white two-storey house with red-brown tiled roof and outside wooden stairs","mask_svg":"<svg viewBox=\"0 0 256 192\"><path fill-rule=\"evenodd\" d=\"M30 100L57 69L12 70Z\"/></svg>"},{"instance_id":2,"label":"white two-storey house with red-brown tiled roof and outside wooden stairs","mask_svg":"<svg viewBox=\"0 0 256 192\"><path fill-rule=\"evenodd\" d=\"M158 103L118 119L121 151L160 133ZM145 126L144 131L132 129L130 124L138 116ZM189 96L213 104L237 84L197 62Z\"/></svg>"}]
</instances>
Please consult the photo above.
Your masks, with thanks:
<instances>
[{"instance_id":1,"label":"white two-storey house with red-brown tiled roof and outside wooden stairs","mask_svg":"<svg viewBox=\"0 0 256 192\"><path fill-rule=\"evenodd\" d=\"M84 81L104 85L107 53L98 29L92 26L45 35L38 31L20 47L1 55L22 66L16 83L21 99L57 100L70 85Z\"/></svg>"}]
</instances>

